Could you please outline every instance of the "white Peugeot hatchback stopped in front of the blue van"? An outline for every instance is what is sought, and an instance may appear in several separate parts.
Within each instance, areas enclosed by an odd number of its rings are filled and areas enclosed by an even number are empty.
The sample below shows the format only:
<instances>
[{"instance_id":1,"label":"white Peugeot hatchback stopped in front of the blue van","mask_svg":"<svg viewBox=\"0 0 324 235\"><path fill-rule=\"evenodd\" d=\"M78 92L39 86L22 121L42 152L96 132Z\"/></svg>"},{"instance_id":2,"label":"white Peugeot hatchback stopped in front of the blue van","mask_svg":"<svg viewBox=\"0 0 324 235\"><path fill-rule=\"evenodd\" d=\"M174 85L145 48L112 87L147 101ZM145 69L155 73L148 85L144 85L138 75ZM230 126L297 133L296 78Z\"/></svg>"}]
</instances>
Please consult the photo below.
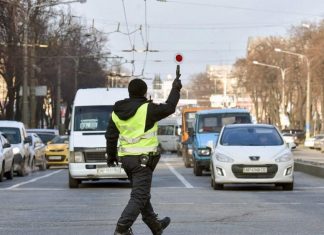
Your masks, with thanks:
<instances>
[{"instance_id":1,"label":"white Peugeot hatchback stopped in front of the blue van","mask_svg":"<svg viewBox=\"0 0 324 235\"><path fill-rule=\"evenodd\" d=\"M275 184L294 187L294 160L289 146L273 125L226 125L210 161L211 186L224 184Z\"/></svg>"}]
</instances>

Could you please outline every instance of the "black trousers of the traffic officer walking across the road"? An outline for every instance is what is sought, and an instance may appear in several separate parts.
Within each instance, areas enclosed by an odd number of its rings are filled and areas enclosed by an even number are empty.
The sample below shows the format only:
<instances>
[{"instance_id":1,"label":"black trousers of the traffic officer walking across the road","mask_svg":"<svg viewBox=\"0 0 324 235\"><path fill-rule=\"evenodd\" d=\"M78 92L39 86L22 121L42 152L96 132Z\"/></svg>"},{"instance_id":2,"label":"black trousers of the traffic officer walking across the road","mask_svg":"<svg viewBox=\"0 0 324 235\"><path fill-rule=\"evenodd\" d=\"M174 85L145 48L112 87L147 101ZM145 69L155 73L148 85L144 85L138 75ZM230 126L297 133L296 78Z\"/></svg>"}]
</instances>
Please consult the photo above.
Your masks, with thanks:
<instances>
[{"instance_id":1,"label":"black trousers of the traffic officer walking across the road","mask_svg":"<svg viewBox=\"0 0 324 235\"><path fill-rule=\"evenodd\" d=\"M151 204L151 184L153 171L160 160L160 155L151 156L146 167L141 166L139 156L121 158L123 168L131 181L130 199L122 212L118 223L131 227L139 214L142 218L155 218Z\"/></svg>"}]
</instances>

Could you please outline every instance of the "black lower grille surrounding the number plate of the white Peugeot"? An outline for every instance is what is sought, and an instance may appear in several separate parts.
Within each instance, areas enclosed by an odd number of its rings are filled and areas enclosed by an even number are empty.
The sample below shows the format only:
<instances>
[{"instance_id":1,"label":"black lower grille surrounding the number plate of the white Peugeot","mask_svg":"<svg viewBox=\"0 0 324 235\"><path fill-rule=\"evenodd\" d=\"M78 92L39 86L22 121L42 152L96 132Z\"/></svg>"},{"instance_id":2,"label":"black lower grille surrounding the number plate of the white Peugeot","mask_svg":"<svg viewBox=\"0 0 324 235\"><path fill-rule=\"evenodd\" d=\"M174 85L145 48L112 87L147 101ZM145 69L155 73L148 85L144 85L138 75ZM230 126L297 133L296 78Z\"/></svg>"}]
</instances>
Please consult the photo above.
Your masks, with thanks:
<instances>
[{"instance_id":1,"label":"black lower grille surrounding the number plate of the white Peugeot","mask_svg":"<svg viewBox=\"0 0 324 235\"><path fill-rule=\"evenodd\" d=\"M266 173L243 173L244 167L267 167ZM273 178L278 171L278 166L275 164L266 165L232 165L232 172L236 178L244 179L269 179Z\"/></svg>"}]
</instances>

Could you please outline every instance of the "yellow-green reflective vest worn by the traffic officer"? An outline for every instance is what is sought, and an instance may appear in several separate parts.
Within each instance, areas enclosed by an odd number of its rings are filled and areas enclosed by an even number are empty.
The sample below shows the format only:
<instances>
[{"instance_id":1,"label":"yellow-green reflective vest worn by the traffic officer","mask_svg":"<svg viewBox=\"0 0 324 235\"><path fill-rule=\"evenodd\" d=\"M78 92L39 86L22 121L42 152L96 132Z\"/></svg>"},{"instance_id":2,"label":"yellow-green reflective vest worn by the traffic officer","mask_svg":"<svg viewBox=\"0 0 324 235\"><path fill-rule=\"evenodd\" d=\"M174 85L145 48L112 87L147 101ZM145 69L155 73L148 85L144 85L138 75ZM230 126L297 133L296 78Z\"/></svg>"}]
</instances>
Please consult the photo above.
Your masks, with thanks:
<instances>
[{"instance_id":1,"label":"yellow-green reflective vest worn by the traffic officer","mask_svg":"<svg viewBox=\"0 0 324 235\"><path fill-rule=\"evenodd\" d=\"M112 120L119 130L118 156L143 155L156 153L159 144L157 138L157 122L148 131L145 130L148 103L141 105L135 115L127 120L121 120L113 112Z\"/></svg>"}]
</instances>

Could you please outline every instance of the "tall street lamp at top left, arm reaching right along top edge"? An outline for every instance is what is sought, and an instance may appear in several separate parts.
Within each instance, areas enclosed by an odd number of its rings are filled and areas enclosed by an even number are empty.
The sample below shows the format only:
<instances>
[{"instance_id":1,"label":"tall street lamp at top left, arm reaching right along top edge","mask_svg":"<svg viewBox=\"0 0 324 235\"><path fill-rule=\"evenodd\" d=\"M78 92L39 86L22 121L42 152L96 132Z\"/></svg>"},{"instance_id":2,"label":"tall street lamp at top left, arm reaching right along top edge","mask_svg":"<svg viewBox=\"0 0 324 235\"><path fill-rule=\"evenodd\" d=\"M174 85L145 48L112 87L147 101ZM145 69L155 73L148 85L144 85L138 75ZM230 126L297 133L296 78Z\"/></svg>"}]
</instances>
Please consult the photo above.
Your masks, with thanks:
<instances>
[{"instance_id":1,"label":"tall street lamp at top left, arm reaching right along top edge","mask_svg":"<svg viewBox=\"0 0 324 235\"><path fill-rule=\"evenodd\" d=\"M22 121L26 125L29 125L29 120L28 120L28 97L27 97L27 83L28 83L28 24L29 24L29 18L31 12L40 7L49 7L49 6L55 6L55 5L60 5L60 4L70 4L74 2L79 2L79 3L85 3L86 0L73 0L73 1L66 1L66 2L57 2L57 3L43 3L43 4L37 4L31 6L25 16L25 24L24 24L24 37L23 37L23 104L22 104Z\"/></svg>"}]
</instances>

